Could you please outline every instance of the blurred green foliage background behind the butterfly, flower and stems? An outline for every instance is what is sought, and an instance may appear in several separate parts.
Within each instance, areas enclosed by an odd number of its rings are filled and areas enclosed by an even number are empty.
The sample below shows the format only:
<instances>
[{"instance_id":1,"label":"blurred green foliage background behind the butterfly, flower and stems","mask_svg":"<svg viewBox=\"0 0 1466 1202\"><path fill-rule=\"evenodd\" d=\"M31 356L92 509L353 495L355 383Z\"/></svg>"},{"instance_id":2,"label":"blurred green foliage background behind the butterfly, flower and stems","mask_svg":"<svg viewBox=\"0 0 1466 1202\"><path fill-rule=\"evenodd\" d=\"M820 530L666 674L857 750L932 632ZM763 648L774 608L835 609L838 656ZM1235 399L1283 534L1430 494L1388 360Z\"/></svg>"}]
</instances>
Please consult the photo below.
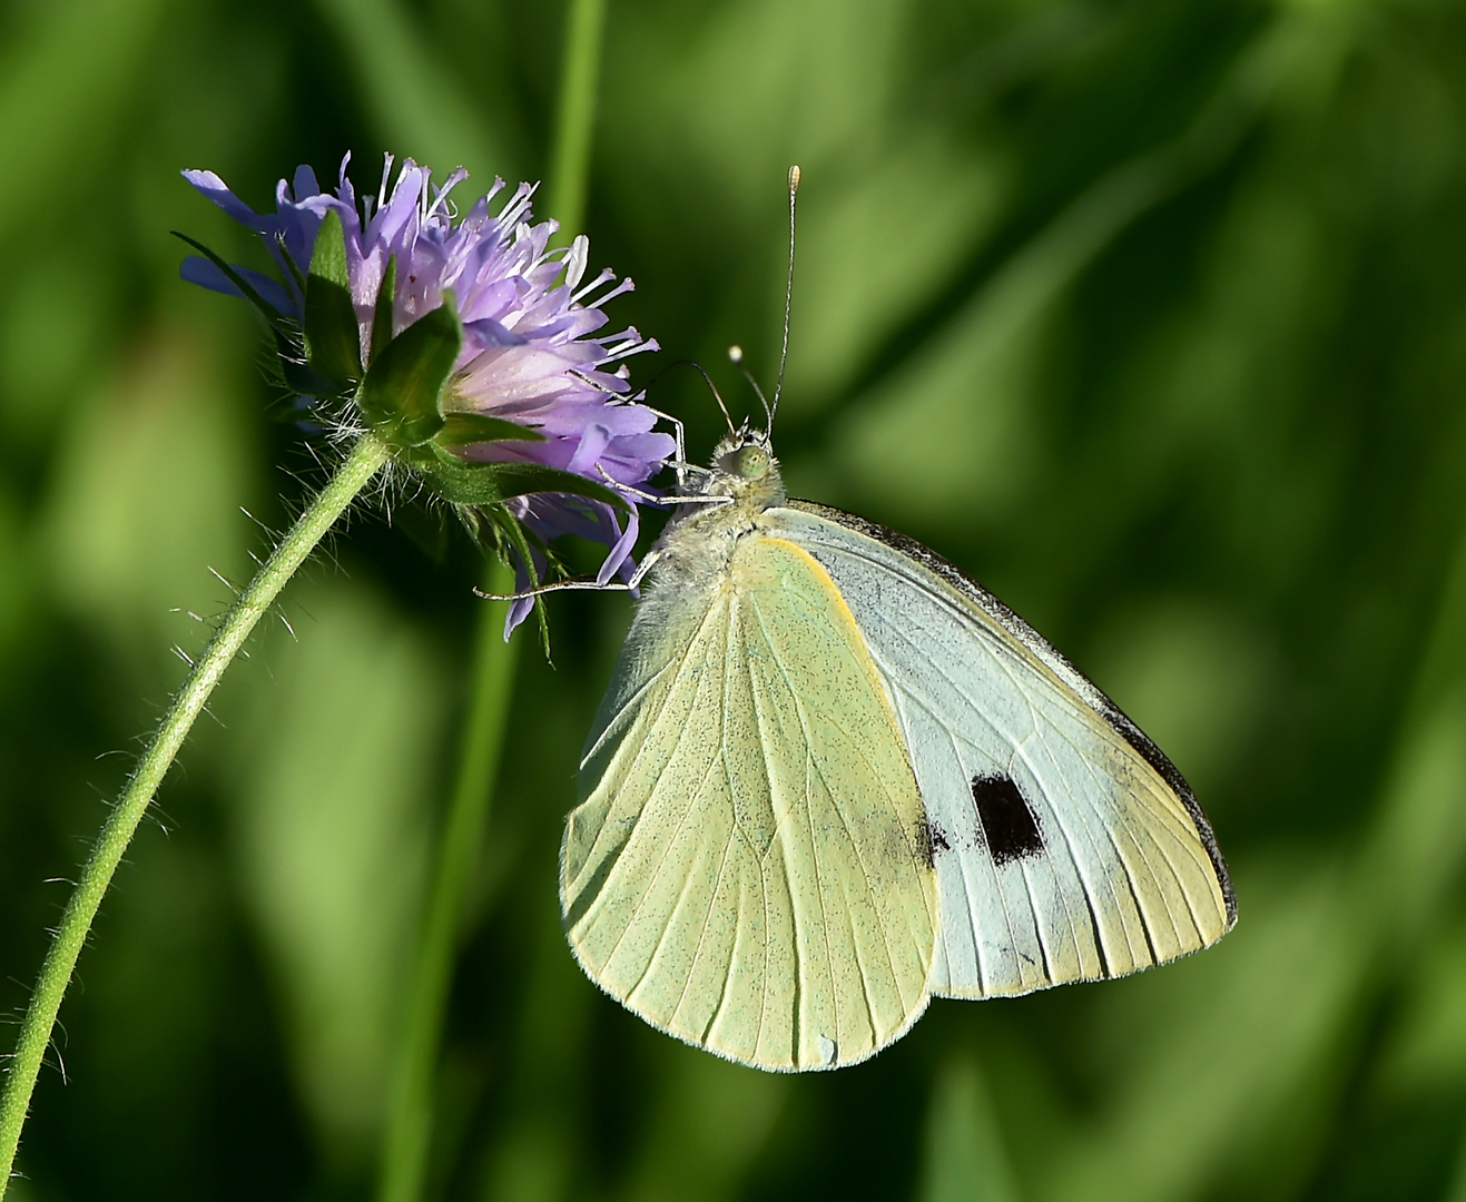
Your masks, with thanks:
<instances>
[{"instance_id":1,"label":"blurred green foliage background behind the butterfly, flower and stems","mask_svg":"<svg viewBox=\"0 0 1466 1202\"><path fill-rule=\"evenodd\" d=\"M550 170L564 7L0 7L0 1011L183 665L321 479L180 167ZM928 542L1192 780L1215 950L938 1001L762 1076L575 967L556 856L629 602L519 636L431 1196L1466 1202L1466 6L610 0L586 227L792 490ZM553 214L547 214L553 215ZM645 380L654 364L635 364ZM690 372L651 397L702 459ZM248 510L248 515L242 510ZM16 1202L361 1199L481 564L358 516L224 680L103 909ZM430 550L424 550L428 545ZM10 1036L6 1036L10 1038Z\"/></svg>"}]
</instances>

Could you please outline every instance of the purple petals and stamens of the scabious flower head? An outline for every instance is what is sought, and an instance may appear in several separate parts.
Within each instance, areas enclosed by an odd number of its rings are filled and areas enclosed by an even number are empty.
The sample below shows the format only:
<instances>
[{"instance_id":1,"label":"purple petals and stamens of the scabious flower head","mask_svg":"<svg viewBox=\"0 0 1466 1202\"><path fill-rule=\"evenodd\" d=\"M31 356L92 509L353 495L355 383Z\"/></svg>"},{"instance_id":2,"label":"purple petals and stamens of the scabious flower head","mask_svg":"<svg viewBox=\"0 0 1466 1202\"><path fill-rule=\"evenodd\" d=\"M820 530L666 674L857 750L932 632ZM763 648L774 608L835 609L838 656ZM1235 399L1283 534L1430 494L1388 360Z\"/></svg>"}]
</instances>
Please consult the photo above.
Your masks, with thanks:
<instances>
[{"instance_id":1,"label":"purple petals and stamens of the scabious flower head","mask_svg":"<svg viewBox=\"0 0 1466 1202\"><path fill-rule=\"evenodd\" d=\"M589 243L583 235L567 248L550 249L559 226L531 224L529 185L519 185L494 211L504 191L503 180L496 179L459 220L449 193L466 179L462 169L438 188L430 172L409 158L391 182L388 155L375 196L358 198L346 176L349 161L350 155L342 161L334 192L324 192L315 173L299 167L292 183L280 180L273 214L255 213L213 172L185 172L199 192L262 237L280 279L243 267L232 268L232 279L220 262L198 257L185 259L183 279L235 295L245 284L281 320L298 328L305 324L309 333L305 281L314 280L317 239L334 213L345 243L345 286L355 314L358 358L366 377L384 342L450 302L462 342L434 419L494 419L529 431L528 437L474 437L475 429L493 435L513 431L484 421L476 427L459 422L460 437L447 450L434 449L440 460L452 454L463 465L531 465L569 472L594 485L638 485L655 475L674 441L654 429L657 415L632 397L625 359L655 350L657 343L630 327L600 333L607 324L603 306L630 292L632 281L617 283L611 271L585 281ZM384 284L390 284L390 298L383 296ZM418 462L431 466L430 460ZM551 476L541 472L531 479ZM432 481L430 473L430 485ZM501 516L510 516L539 542L523 548L537 578L547 567L541 547L561 534L608 547L598 573L601 583L629 575L633 566L635 504L619 507L583 493L538 490L496 504ZM523 554L515 558L523 588L531 564ZM531 601L512 605L506 636L531 607Z\"/></svg>"}]
</instances>

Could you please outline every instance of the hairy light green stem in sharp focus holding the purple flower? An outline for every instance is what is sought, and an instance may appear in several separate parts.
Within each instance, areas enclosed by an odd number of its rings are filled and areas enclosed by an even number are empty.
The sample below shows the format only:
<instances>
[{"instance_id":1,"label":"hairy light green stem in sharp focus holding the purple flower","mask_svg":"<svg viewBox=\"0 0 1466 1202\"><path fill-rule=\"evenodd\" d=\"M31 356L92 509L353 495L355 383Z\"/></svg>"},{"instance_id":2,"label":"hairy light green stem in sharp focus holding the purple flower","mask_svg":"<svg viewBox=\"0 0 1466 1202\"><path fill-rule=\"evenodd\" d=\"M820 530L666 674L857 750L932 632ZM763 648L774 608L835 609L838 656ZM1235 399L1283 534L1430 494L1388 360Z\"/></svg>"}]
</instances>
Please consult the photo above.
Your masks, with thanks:
<instances>
[{"instance_id":1,"label":"hairy light green stem in sharp focus holding the purple flower","mask_svg":"<svg viewBox=\"0 0 1466 1202\"><path fill-rule=\"evenodd\" d=\"M208 702L210 693L224 674L255 623L274 602L295 570L315 550L337 517L366 487L378 469L387 462L387 447L372 435L364 435L331 481L317 494L315 500L301 515L290 532L255 575L249 586L239 595L214 638L199 657L194 670L169 705L163 721L138 761L126 789L117 799L107 824L103 827L91 856L82 869L81 881L72 891L62 923L56 929L45 963L31 994L31 1003L21 1025L21 1039L10 1061L4 1094L0 1095L0 1198L4 1198L10 1183L15 1152L21 1143L21 1129L25 1126L31 1107L31 1094L41 1070L41 1061L51 1042L51 1029L62 1009L62 998L76 967L76 957L86 943L97 907L111 884L128 844L132 841L142 815L147 814L158 786L167 775L183 740Z\"/></svg>"}]
</instances>

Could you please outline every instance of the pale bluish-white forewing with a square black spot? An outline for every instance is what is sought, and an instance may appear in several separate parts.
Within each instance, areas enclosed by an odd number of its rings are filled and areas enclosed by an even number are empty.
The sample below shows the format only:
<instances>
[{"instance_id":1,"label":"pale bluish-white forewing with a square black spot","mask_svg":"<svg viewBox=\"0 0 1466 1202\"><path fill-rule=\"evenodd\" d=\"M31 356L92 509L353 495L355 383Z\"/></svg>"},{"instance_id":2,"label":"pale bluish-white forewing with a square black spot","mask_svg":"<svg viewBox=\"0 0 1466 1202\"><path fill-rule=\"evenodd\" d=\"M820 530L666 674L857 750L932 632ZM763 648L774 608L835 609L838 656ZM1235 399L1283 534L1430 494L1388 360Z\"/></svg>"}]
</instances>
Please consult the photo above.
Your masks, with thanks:
<instances>
[{"instance_id":1,"label":"pale bluish-white forewing with a square black spot","mask_svg":"<svg viewBox=\"0 0 1466 1202\"><path fill-rule=\"evenodd\" d=\"M863 519L792 501L764 520L831 575L897 711L932 831L932 994L1119 976L1231 928L1186 781L1032 627Z\"/></svg>"}]
</instances>

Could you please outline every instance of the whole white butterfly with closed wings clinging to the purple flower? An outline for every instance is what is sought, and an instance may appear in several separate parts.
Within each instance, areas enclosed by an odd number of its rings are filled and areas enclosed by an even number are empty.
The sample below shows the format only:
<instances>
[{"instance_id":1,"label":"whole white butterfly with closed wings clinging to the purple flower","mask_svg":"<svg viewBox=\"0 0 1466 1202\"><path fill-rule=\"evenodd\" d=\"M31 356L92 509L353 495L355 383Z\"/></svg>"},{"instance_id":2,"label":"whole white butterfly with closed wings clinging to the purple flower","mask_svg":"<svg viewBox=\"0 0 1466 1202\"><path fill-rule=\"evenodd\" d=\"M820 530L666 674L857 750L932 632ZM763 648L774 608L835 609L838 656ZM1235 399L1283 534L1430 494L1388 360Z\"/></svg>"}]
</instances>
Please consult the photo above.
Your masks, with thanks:
<instances>
[{"instance_id":1,"label":"whole white butterfly with closed wings clinging to the purple flower","mask_svg":"<svg viewBox=\"0 0 1466 1202\"><path fill-rule=\"evenodd\" d=\"M1180 773L1001 601L787 500L767 434L724 440L699 497L652 553L566 824L566 929L601 988L742 1064L830 1069L932 997L1120 976L1231 928Z\"/></svg>"}]
</instances>

